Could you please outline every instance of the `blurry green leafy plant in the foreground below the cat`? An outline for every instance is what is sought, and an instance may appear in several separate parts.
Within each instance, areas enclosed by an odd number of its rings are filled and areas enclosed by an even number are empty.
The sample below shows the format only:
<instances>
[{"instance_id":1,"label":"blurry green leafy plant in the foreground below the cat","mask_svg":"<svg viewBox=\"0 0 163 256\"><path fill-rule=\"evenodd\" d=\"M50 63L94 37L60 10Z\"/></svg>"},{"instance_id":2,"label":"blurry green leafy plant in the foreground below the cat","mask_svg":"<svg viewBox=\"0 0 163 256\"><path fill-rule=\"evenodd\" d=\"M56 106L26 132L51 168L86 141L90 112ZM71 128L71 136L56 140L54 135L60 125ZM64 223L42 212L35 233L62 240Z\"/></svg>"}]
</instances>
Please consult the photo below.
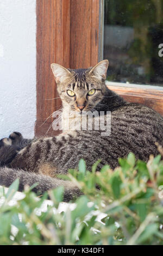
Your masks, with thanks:
<instances>
[{"instance_id":1,"label":"blurry green leafy plant in the foreground below the cat","mask_svg":"<svg viewBox=\"0 0 163 256\"><path fill-rule=\"evenodd\" d=\"M98 163L89 172L82 159L78 170L70 170L66 179L82 188L84 195L67 204L65 211L59 210L63 187L49 193L53 205L39 213L47 193L38 199L26 188L24 198L11 205L18 180L7 193L1 188L0 244L163 245L161 156L151 156L146 164L130 153L114 171L106 165L97 172Z\"/></svg>"}]
</instances>

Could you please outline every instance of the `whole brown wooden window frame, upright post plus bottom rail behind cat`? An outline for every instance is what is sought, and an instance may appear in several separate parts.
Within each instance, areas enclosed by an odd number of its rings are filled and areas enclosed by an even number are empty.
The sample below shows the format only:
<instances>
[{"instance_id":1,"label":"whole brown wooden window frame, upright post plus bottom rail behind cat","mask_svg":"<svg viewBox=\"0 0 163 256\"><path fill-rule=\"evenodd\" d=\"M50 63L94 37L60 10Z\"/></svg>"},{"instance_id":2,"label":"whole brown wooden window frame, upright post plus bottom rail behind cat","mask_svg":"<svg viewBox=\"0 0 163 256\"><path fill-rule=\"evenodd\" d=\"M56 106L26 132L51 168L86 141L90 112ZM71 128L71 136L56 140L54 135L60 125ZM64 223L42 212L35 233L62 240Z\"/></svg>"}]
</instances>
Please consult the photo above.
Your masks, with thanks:
<instances>
[{"instance_id":1,"label":"whole brown wooden window frame, upright post plus bottom rail behind cat","mask_svg":"<svg viewBox=\"0 0 163 256\"><path fill-rule=\"evenodd\" d=\"M103 0L36 0L36 136L57 134L49 129L53 121L49 116L61 107L51 63L78 69L103 59L103 11ZM163 115L161 88L106 84L127 101L142 103Z\"/></svg>"}]
</instances>

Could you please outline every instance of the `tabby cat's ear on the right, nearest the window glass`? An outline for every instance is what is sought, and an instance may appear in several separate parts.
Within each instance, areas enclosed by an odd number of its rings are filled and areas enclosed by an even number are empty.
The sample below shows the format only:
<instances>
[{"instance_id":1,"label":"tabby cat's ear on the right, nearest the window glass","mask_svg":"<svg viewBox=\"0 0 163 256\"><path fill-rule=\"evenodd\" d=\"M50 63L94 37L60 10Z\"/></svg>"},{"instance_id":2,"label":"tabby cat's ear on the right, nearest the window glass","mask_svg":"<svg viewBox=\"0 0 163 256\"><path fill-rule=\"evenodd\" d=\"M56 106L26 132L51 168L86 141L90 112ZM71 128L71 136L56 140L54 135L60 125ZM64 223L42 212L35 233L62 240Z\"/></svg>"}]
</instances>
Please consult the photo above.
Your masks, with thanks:
<instances>
[{"instance_id":1,"label":"tabby cat's ear on the right, nearest the window glass","mask_svg":"<svg viewBox=\"0 0 163 256\"><path fill-rule=\"evenodd\" d=\"M96 77L98 80L105 80L108 65L108 59L104 59L101 62L97 63L96 66L93 66L93 68L89 71L89 74Z\"/></svg>"}]
</instances>

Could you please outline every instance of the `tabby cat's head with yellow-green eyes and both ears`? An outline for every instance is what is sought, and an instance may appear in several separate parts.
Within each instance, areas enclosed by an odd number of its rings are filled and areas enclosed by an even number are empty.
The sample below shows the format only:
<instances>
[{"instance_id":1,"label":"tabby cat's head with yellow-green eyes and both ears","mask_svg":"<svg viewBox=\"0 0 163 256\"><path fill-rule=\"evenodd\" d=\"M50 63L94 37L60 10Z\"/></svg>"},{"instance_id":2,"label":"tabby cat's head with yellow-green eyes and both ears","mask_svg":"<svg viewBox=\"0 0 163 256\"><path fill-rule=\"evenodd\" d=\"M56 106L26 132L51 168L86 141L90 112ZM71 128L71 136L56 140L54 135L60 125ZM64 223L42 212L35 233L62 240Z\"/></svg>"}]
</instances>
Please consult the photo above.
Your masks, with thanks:
<instances>
[{"instance_id":1,"label":"tabby cat's head with yellow-green eyes and both ears","mask_svg":"<svg viewBox=\"0 0 163 256\"><path fill-rule=\"evenodd\" d=\"M93 68L66 69L59 64L51 68L63 105L69 105L73 111L89 111L103 98L105 93L108 60L102 60Z\"/></svg>"}]
</instances>

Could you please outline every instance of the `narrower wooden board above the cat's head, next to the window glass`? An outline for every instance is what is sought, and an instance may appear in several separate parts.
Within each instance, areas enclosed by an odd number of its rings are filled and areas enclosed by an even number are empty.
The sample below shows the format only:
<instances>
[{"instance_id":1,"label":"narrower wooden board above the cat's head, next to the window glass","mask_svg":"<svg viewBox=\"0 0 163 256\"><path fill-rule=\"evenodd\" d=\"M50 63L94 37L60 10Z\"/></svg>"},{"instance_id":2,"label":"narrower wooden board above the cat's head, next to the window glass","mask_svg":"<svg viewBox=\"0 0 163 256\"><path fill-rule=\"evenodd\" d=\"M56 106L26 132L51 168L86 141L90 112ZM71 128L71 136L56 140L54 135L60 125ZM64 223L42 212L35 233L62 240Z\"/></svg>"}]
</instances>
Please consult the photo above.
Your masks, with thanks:
<instances>
[{"instance_id":1,"label":"narrower wooden board above the cat's head, next to the window glass","mask_svg":"<svg viewBox=\"0 0 163 256\"><path fill-rule=\"evenodd\" d=\"M98 62L99 1L71 0L70 68Z\"/></svg>"}]
</instances>

